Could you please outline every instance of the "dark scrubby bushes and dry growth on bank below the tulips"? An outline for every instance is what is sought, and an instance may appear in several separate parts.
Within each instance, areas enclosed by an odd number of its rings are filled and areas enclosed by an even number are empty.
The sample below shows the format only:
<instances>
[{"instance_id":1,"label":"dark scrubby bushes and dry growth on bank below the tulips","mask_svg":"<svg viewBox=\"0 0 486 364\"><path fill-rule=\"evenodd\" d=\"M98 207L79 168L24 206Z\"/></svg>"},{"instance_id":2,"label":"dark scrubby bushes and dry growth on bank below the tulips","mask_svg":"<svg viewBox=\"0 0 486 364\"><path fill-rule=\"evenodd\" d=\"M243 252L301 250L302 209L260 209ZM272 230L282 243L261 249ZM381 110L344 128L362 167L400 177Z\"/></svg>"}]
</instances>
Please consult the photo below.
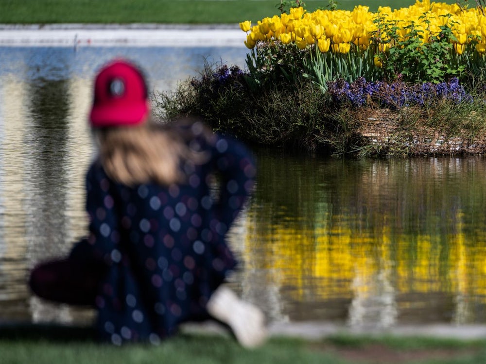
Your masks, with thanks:
<instances>
[{"instance_id":1,"label":"dark scrubby bushes and dry growth on bank below the tulips","mask_svg":"<svg viewBox=\"0 0 486 364\"><path fill-rule=\"evenodd\" d=\"M486 136L484 93L475 94L474 101L434 99L421 107L383 110L379 94L356 107L336 102L330 90L323 92L310 77L291 82L281 71L266 71L260 76L274 81L257 83L238 67L207 65L200 77L180 83L175 92L155 94L154 112L162 121L201 117L213 130L250 144L338 155L451 154L483 148L477 141ZM377 136L366 136L368 131ZM451 149L449 143L458 140L457 149Z\"/></svg>"}]
</instances>

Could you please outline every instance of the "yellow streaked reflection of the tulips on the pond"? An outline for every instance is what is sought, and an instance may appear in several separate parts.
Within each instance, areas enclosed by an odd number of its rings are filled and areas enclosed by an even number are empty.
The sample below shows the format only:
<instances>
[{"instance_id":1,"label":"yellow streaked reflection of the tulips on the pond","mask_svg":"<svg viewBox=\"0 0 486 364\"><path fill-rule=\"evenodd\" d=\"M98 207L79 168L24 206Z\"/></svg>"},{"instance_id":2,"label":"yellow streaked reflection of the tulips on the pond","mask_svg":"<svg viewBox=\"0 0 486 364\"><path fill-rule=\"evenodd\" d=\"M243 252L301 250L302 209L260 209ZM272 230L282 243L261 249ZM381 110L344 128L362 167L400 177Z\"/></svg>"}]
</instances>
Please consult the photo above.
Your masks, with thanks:
<instances>
[{"instance_id":1,"label":"yellow streaked reflection of the tulips on the pond","mask_svg":"<svg viewBox=\"0 0 486 364\"><path fill-rule=\"evenodd\" d=\"M250 210L243 259L268 271L284 300L325 306L347 299L349 311L374 305L391 310L383 318L388 324L395 322L395 307L398 314L439 307L458 323L474 321L469 306L486 304L486 234L467 236L462 216L454 216L454 233L413 235L394 234L386 224L378 232L356 231L349 216L330 214L314 227L298 219L269 226Z\"/></svg>"}]
</instances>

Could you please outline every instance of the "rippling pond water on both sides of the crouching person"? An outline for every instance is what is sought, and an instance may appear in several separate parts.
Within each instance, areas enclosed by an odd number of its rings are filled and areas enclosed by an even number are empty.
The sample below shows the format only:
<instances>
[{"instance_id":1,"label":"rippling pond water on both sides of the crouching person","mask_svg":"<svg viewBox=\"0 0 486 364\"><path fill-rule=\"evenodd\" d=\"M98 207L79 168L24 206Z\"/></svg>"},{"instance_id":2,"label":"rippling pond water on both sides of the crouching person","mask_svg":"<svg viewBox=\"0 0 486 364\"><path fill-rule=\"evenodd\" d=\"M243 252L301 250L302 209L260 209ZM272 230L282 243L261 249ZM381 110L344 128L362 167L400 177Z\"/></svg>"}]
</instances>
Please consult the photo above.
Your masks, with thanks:
<instances>
[{"instance_id":1,"label":"rippling pond water on both sides of the crouching person","mask_svg":"<svg viewBox=\"0 0 486 364\"><path fill-rule=\"evenodd\" d=\"M244 48L0 47L0 322L86 322L31 297L28 271L86 232L86 117L117 55L174 89ZM342 160L255 150L253 198L229 234L230 284L272 321L358 327L486 321L486 159Z\"/></svg>"}]
</instances>

